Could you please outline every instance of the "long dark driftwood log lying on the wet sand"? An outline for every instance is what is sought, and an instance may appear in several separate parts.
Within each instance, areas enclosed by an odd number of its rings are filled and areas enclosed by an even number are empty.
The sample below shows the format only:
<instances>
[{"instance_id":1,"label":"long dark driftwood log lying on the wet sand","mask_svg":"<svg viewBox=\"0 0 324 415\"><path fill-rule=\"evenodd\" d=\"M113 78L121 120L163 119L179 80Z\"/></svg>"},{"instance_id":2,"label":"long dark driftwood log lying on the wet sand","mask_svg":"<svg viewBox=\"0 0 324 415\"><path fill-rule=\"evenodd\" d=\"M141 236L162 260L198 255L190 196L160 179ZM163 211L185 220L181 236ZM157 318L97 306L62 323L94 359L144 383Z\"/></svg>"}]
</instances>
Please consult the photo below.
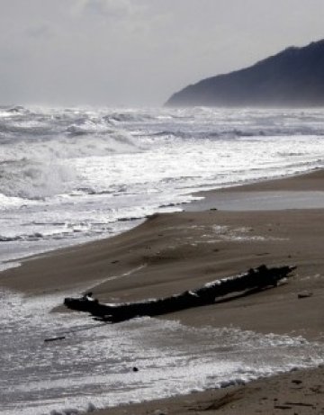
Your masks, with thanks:
<instances>
[{"instance_id":1,"label":"long dark driftwood log lying on the wet sand","mask_svg":"<svg viewBox=\"0 0 324 415\"><path fill-rule=\"evenodd\" d=\"M103 304L94 300L92 293L88 293L80 298L66 298L64 304L69 309L86 311L100 320L114 323L140 316L157 316L168 312L209 305L231 293L243 293L248 290L261 291L276 286L279 281L290 276L293 269L295 269L295 266L271 268L258 266L249 269L247 273L222 278L193 291L185 291L171 297L142 302Z\"/></svg>"}]
</instances>

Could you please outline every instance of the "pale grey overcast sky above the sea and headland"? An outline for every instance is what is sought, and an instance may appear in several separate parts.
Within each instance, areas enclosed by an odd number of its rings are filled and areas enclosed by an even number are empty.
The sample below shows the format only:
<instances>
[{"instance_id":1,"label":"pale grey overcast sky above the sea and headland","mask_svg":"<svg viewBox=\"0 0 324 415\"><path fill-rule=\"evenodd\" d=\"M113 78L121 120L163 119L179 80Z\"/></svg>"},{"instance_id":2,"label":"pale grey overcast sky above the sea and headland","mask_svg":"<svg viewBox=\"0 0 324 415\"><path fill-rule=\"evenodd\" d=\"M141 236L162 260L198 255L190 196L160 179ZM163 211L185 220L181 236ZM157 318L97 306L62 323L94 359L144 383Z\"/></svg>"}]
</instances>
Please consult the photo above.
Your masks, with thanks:
<instances>
[{"instance_id":1,"label":"pale grey overcast sky above the sea and headland","mask_svg":"<svg viewBox=\"0 0 324 415\"><path fill-rule=\"evenodd\" d=\"M160 105L323 21L323 0L0 0L0 104Z\"/></svg>"}]
</instances>

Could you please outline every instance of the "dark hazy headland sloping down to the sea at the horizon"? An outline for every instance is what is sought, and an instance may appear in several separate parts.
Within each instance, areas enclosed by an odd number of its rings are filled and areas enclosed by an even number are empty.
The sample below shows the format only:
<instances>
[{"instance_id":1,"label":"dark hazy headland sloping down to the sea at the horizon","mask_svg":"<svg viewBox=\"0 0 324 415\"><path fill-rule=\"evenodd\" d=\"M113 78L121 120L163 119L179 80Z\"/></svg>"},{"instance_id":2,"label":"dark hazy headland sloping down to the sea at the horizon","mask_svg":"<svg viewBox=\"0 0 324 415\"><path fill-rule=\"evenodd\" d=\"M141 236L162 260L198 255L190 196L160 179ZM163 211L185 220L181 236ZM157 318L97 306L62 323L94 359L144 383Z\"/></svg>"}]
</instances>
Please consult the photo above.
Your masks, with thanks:
<instances>
[{"instance_id":1,"label":"dark hazy headland sloping down to the sea at the horizon","mask_svg":"<svg viewBox=\"0 0 324 415\"><path fill-rule=\"evenodd\" d=\"M172 95L166 105L324 106L324 40L203 79Z\"/></svg>"}]
</instances>

